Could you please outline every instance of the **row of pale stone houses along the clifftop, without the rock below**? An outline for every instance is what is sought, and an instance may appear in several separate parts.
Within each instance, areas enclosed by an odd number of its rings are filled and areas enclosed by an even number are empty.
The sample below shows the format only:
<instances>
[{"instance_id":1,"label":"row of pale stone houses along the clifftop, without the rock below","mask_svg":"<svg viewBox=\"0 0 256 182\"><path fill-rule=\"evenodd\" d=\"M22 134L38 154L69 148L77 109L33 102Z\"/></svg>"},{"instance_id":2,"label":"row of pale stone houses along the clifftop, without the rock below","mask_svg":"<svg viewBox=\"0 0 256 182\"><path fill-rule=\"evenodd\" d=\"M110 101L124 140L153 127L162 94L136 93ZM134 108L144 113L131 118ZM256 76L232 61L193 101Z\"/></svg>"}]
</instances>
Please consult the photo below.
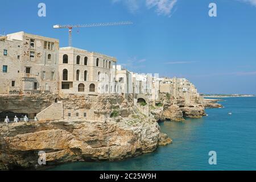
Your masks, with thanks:
<instances>
[{"instance_id":1,"label":"row of pale stone houses along the clifftop, without the rock below","mask_svg":"<svg viewBox=\"0 0 256 182\"><path fill-rule=\"evenodd\" d=\"M74 47L59 40L16 32L0 36L0 94L133 94L135 103L155 105L160 94L199 96L185 78L130 72L117 59Z\"/></svg>"}]
</instances>

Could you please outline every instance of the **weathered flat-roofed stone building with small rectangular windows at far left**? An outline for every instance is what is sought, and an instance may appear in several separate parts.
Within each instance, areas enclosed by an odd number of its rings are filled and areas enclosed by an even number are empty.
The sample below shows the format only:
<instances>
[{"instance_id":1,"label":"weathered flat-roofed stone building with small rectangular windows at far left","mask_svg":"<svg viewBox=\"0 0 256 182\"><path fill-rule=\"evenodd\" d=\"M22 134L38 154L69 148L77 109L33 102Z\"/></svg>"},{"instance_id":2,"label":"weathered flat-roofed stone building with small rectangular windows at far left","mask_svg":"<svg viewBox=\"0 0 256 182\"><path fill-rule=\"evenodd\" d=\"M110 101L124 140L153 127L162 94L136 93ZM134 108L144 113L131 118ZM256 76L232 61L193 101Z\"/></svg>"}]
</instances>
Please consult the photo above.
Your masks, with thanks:
<instances>
[{"instance_id":1,"label":"weathered flat-roofed stone building with small rectangular windows at far left","mask_svg":"<svg viewBox=\"0 0 256 182\"><path fill-rule=\"evenodd\" d=\"M16 32L0 36L0 93L57 92L59 40Z\"/></svg>"}]
</instances>

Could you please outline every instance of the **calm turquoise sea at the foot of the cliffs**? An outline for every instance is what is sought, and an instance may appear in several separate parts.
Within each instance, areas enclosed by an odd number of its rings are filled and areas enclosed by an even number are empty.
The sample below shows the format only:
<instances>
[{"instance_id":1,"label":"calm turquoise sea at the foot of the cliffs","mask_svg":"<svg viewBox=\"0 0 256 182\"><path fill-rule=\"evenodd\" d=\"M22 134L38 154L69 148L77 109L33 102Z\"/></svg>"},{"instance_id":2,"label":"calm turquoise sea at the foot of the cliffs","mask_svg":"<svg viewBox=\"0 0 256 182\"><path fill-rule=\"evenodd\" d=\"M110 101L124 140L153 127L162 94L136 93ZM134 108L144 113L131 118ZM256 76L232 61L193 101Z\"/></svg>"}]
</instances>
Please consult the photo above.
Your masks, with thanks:
<instances>
[{"instance_id":1,"label":"calm turquoise sea at the foot of the cliffs","mask_svg":"<svg viewBox=\"0 0 256 182\"><path fill-rule=\"evenodd\" d=\"M52 170L256 170L256 97L223 98L207 117L159 123L173 143L120 162L76 162ZM228 113L232 113L229 115ZM217 165L209 165L209 151Z\"/></svg>"}]
</instances>

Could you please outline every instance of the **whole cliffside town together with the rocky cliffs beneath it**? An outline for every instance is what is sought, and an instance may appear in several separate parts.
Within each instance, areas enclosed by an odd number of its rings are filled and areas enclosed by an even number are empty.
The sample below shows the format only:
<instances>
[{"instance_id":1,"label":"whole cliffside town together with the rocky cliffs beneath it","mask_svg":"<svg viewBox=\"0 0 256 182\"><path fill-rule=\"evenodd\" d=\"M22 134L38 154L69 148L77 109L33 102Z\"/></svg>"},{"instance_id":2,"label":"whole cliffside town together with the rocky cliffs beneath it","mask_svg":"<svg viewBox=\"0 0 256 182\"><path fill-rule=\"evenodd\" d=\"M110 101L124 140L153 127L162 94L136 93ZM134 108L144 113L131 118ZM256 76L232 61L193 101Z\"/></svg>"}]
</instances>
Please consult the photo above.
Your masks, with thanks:
<instances>
[{"instance_id":1,"label":"whole cliffside town together with the rocky cliffs beneath it","mask_svg":"<svg viewBox=\"0 0 256 182\"><path fill-rule=\"evenodd\" d=\"M172 142L158 122L222 107L185 78L134 73L57 39L16 32L0 49L0 169L131 158Z\"/></svg>"}]
</instances>

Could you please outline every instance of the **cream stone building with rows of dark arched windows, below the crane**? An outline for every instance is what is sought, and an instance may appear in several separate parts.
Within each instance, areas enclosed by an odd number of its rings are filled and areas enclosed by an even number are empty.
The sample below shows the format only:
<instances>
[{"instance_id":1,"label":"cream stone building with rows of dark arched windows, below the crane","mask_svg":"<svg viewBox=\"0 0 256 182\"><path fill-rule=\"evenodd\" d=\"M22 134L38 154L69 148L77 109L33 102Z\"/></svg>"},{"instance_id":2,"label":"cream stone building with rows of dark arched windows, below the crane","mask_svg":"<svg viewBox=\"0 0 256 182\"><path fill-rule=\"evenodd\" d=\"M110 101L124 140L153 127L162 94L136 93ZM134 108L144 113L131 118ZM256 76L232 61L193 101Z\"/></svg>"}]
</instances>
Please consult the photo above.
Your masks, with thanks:
<instances>
[{"instance_id":1,"label":"cream stone building with rows of dark arched windows, below the crane","mask_svg":"<svg viewBox=\"0 0 256 182\"><path fill-rule=\"evenodd\" d=\"M60 48L60 92L63 94L113 93L114 57L74 47Z\"/></svg>"}]
</instances>

